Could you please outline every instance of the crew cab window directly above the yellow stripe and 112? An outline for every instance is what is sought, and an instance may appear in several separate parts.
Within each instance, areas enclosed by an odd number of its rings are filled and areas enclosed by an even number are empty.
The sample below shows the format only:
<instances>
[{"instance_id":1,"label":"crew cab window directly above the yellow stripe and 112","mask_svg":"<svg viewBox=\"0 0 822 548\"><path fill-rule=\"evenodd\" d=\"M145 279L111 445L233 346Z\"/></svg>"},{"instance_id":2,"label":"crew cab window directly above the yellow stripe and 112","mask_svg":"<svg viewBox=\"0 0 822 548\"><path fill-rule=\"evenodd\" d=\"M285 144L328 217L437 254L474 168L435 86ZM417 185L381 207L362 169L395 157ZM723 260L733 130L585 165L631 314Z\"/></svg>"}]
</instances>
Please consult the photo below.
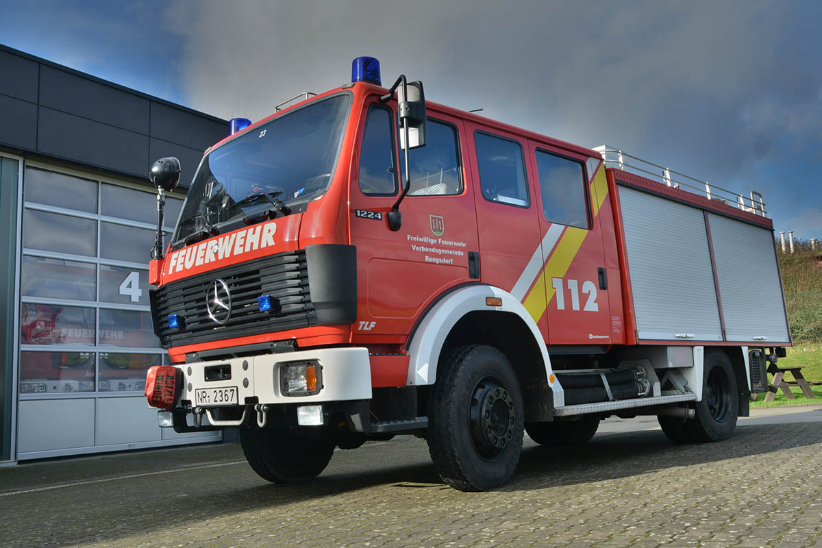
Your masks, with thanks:
<instances>
[{"instance_id":1,"label":"crew cab window directly above the yellow stripe and 112","mask_svg":"<svg viewBox=\"0 0 822 548\"><path fill-rule=\"evenodd\" d=\"M537 150L537 170L545 219L569 227L590 228L582 163Z\"/></svg>"}]
</instances>

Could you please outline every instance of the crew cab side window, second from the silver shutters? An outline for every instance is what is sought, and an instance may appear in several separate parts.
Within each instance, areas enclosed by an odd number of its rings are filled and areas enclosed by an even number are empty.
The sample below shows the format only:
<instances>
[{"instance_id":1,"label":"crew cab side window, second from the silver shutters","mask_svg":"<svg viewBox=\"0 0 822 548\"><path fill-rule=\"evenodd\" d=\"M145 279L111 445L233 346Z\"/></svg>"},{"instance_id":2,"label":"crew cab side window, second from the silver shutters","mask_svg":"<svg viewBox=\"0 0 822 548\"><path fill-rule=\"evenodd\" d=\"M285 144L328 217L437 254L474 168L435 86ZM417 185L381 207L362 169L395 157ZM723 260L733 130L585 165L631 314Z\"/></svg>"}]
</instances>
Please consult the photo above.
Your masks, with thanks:
<instances>
[{"instance_id":1,"label":"crew cab side window, second from the silver shutters","mask_svg":"<svg viewBox=\"0 0 822 548\"><path fill-rule=\"evenodd\" d=\"M474 134L479 181L486 200L528 207L531 204L525 177L522 145L514 140Z\"/></svg>"}]
</instances>

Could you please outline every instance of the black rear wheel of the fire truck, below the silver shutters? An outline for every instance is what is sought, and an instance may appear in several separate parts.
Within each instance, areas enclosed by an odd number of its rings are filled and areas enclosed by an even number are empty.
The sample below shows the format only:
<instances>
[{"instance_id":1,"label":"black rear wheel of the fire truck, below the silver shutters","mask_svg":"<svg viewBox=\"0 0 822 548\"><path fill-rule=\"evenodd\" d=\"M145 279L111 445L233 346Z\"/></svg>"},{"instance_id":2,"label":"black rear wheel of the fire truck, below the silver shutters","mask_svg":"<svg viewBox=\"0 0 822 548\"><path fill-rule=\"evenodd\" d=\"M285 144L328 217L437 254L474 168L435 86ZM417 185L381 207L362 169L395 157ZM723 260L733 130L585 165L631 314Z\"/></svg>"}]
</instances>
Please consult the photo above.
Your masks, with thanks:
<instances>
[{"instance_id":1,"label":"black rear wheel of the fire truck, below the silver shutters","mask_svg":"<svg viewBox=\"0 0 822 548\"><path fill-rule=\"evenodd\" d=\"M705 352L702 400L695 403L695 410L696 416L686 422L694 441L727 440L737 427L737 375L725 352Z\"/></svg>"}]
</instances>

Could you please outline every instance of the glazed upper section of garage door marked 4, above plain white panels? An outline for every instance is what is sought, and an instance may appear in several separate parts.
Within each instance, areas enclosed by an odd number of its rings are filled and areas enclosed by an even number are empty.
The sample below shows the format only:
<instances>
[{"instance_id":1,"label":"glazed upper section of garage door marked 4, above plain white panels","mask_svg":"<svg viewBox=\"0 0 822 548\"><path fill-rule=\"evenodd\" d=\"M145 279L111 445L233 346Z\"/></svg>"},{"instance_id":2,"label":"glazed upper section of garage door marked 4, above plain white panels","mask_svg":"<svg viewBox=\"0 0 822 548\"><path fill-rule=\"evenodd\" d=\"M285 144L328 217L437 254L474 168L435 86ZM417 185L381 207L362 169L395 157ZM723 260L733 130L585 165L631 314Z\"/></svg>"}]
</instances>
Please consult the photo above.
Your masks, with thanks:
<instances>
[{"instance_id":1,"label":"glazed upper section of garage door marked 4, above plain white panels","mask_svg":"<svg viewBox=\"0 0 822 548\"><path fill-rule=\"evenodd\" d=\"M21 396L141 392L168 362L149 308L154 192L30 166L23 188ZM167 233L181 208L166 196Z\"/></svg>"}]
</instances>

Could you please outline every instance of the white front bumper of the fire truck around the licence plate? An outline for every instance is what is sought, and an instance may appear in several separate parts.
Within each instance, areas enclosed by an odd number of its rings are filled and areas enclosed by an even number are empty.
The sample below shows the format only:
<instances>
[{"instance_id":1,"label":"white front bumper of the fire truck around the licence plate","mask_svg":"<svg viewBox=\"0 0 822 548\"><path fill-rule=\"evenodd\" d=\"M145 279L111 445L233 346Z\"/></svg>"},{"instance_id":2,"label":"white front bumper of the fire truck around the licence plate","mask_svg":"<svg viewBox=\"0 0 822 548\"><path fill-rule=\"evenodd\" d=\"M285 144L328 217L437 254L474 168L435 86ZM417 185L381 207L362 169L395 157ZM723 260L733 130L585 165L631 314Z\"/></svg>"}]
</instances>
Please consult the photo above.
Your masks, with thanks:
<instances>
[{"instance_id":1,"label":"white front bumper of the fire truck around the licence plate","mask_svg":"<svg viewBox=\"0 0 822 548\"><path fill-rule=\"evenodd\" d=\"M292 361L316 360L321 366L322 388L311 396L285 396L279 388L279 370ZM205 380L208 366L231 366L228 380ZM239 403L258 398L259 403L322 403L371 399L371 366L367 348L321 348L229 360L199 361L178 365L183 383L180 399L192 402L197 389L236 387Z\"/></svg>"}]
</instances>

